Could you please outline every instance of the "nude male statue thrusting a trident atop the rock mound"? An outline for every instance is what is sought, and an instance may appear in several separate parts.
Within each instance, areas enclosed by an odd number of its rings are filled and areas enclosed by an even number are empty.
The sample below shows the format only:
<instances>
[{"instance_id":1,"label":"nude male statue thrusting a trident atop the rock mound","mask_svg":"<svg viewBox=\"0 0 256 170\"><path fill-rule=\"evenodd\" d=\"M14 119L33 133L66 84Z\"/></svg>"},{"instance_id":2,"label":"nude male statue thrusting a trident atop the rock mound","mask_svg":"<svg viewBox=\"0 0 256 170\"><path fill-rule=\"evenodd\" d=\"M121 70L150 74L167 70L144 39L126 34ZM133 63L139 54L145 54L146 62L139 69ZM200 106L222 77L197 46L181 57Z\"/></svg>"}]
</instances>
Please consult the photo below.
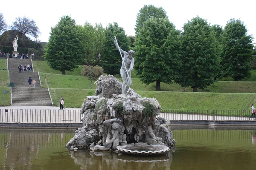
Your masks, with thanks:
<instances>
[{"instance_id":1,"label":"nude male statue thrusting a trident atop the rock mound","mask_svg":"<svg viewBox=\"0 0 256 170\"><path fill-rule=\"evenodd\" d=\"M122 67L120 69L120 74L123 80L123 84L122 84L122 94L125 95L127 94L127 91L130 87L130 85L132 85L131 82L131 71L133 70L134 67L134 54L135 51L123 51L118 43L116 42L116 40L114 40L114 44L116 45L116 49L120 51L120 53L124 54L124 57L122 58ZM121 54L121 57L122 57Z\"/></svg>"}]
</instances>

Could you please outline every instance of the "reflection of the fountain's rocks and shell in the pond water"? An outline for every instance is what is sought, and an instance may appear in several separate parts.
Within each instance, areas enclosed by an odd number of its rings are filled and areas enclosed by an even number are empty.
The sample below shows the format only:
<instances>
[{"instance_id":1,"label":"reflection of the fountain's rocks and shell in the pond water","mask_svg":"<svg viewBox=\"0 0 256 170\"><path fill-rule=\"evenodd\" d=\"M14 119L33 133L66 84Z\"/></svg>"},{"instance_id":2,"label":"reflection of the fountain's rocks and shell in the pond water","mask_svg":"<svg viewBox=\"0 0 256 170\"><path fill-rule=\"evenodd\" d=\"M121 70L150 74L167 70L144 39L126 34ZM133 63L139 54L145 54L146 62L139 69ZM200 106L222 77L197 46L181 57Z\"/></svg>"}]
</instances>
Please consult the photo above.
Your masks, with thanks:
<instances>
[{"instance_id":1,"label":"reflection of the fountain's rocks and shell in the pond water","mask_svg":"<svg viewBox=\"0 0 256 170\"><path fill-rule=\"evenodd\" d=\"M108 170L154 170L156 168L169 168L172 163L172 152L157 156L132 156L127 154L116 154L108 152L90 152L90 151L69 151L76 165L81 169L94 167L95 169Z\"/></svg>"}]
</instances>

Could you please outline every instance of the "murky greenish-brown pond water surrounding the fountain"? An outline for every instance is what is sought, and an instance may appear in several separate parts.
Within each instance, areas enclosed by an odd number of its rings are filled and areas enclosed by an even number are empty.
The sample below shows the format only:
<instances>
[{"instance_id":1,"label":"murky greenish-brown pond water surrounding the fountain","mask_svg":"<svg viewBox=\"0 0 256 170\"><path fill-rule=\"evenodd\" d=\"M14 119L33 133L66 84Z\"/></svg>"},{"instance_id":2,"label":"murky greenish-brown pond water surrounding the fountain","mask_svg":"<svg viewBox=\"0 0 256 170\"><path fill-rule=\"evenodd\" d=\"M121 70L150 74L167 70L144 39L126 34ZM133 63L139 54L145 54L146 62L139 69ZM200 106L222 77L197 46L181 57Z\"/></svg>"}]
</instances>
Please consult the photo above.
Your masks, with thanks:
<instances>
[{"instance_id":1,"label":"murky greenish-brown pond water surrounding the fountain","mask_svg":"<svg viewBox=\"0 0 256 170\"><path fill-rule=\"evenodd\" d=\"M161 156L70 152L71 130L0 129L0 170L255 170L256 130L173 130Z\"/></svg>"}]
</instances>

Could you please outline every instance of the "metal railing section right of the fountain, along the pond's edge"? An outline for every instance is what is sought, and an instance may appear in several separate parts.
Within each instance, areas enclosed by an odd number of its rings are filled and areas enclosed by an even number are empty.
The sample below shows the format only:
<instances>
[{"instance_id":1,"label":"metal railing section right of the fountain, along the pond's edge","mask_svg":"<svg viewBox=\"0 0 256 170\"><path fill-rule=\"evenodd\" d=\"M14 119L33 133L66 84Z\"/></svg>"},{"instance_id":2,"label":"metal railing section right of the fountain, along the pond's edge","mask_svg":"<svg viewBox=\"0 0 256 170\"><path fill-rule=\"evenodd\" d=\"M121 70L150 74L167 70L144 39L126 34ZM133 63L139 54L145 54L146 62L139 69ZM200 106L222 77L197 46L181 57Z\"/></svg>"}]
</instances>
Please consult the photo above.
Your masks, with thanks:
<instances>
[{"instance_id":1,"label":"metal railing section right of the fountain, along the pond's edge","mask_svg":"<svg viewBox=\"0 0 256 170\"><path fill-rule=\"evenodd\" d=\"M161 110L158 116L166 120L242 121L250 115L250 110Z\"/></svg>"}]
</instances>

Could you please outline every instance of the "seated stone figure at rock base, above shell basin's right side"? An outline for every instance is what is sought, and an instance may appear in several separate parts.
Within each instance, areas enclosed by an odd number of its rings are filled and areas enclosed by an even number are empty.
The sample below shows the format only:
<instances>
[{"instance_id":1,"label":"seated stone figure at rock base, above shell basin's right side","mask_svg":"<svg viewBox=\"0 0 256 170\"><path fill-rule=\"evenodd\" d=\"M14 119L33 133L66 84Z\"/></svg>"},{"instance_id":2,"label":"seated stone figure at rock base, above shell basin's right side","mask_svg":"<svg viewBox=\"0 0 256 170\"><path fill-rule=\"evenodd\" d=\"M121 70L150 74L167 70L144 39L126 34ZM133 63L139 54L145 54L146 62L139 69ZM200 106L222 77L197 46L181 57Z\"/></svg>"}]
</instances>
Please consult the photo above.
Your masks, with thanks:
<instances>
[{"instance_id":1,"label":"seated stone figure at rock base, above shell basin's right side","mask_svg":"<svg viewBox=\"0 0 256 170\"><path fill-rule=\"evenodd\" d=\"M146 134L145 134L145 141L148 143L148 144L161 144L161 145L166 145L164 144L162 141L163 139L162 138L159 138L157 136L154 135L154 129L155 128L155 125L154 123L152 125L149 125L147 127L147 130L146 130Z\"/></svg>"}]
</instances>

